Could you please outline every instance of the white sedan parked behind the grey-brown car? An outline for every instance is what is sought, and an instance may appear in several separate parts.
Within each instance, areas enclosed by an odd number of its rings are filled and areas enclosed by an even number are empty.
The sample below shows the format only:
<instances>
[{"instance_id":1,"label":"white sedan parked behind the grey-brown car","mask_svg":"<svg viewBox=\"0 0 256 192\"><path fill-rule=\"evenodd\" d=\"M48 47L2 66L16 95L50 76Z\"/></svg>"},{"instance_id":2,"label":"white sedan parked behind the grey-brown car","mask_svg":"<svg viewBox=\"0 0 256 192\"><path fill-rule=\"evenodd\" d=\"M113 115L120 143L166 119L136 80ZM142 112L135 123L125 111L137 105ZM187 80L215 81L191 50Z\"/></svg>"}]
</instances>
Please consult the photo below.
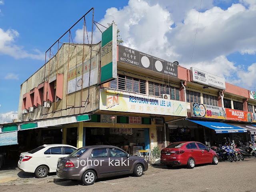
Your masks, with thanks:
<instances>
[{"instance_id":1,"label":"white sedan parked behind the grey-brown car","mask_svg":"<svg viewBox=\"0 0 256 192\"><path fill-rule=\"evenodd\" d=\"M56 172L58 158L66 157L76 149L66 144L42 145L21 153L18 168L24 172L35 173L38 178L43 178L48 172Z\"/></svg>"}]
</instances>

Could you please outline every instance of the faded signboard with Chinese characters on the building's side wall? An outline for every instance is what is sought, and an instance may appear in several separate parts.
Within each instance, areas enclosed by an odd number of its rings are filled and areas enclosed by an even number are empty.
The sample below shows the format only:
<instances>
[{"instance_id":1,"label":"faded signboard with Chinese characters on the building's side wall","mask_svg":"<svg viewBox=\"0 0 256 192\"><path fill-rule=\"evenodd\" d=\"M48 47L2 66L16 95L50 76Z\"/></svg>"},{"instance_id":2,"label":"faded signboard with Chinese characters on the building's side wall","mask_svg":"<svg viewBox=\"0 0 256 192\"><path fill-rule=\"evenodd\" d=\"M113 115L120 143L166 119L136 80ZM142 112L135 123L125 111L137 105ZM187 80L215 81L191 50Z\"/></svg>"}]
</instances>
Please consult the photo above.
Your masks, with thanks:
<instances>
[{"instance_id":1,"label":"faded signboard with Chinese characters on the building's side wall","mask_svg":"<svg viewBox=\"0 0 256 192\"><path fill-rule=\"evenodd\" d=\"M98 56L92 58L90 86L98 83ZM90 59L84 62L84 75L82 79L82 63L68 70L68 94L89 86Z\"/></svg>"}]
</instances>

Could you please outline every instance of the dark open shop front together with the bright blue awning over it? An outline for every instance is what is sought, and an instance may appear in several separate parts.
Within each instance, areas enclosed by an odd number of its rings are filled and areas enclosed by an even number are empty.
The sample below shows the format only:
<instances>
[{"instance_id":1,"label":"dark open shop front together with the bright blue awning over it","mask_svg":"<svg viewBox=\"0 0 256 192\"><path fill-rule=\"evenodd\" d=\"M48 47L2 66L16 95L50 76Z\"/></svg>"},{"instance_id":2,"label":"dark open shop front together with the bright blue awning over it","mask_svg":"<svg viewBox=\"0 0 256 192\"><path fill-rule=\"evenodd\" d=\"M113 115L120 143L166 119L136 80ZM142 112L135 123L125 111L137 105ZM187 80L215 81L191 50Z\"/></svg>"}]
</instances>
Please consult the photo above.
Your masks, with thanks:
<instances>
[{"instance_id":1,"label":"dark open shop front together with the bright blue awning over it","mask_svg":"<svg viewBox=\"0 0 256 192\"><path fill-rule=\"evenodd\" d=\"M230 138L230 141L235 143L236 141L246 142L248 141L247 130L233 126L222 122L210 122L202 120L191 120L191 122L199 124L204 127L204 139L207 146L215 145L216 143L224 143Z\"/></svg>"}]
</instances>

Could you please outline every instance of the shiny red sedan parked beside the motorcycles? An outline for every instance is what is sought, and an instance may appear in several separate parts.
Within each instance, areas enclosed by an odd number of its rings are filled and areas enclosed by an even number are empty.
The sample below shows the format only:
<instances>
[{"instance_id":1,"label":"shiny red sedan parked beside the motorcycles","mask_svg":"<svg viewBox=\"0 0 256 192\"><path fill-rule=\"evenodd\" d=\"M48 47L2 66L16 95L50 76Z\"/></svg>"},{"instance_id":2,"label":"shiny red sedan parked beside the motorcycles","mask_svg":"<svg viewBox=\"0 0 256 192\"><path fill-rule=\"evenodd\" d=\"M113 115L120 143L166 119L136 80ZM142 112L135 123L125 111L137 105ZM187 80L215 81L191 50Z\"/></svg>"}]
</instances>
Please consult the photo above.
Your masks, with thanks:
<instances>
[{"instance_id":1,"label":"shiny red sedan parked beside the motorcycles","mask_svg":"<svg viewBox=\"0 0 256 192\"><path fill-rule=\"evenodd\" d=\"M161 163L167 167L173 165L187 165L192 169L196 164L212 163L218 164L218 156L200 142L175 142L161 151Z\"/></svg>"}]
</instances>

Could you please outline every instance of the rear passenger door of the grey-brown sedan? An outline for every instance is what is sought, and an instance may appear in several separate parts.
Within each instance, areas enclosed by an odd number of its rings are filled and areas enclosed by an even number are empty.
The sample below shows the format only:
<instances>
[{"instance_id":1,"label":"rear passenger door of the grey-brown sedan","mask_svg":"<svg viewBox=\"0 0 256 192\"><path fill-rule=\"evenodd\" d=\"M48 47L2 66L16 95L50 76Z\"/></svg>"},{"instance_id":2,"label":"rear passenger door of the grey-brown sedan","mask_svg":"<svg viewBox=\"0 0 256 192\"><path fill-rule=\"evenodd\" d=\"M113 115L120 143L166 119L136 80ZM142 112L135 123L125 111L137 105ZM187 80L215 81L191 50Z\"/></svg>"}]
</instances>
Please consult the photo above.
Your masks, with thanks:
<instances>
[{"instance_id":1,"label":"rear passenger door of the grey-brown sedan","mask_svg":"<svg viewBox=\"0 0 256 192\"><path fill-rule=\"evenodd\" d=\"M111 173L111 168L108 165L108 148L97 148L92 150L89 160L92 160L92 166L96 168L100 175Z\"/></svg>"}]
</instances>

